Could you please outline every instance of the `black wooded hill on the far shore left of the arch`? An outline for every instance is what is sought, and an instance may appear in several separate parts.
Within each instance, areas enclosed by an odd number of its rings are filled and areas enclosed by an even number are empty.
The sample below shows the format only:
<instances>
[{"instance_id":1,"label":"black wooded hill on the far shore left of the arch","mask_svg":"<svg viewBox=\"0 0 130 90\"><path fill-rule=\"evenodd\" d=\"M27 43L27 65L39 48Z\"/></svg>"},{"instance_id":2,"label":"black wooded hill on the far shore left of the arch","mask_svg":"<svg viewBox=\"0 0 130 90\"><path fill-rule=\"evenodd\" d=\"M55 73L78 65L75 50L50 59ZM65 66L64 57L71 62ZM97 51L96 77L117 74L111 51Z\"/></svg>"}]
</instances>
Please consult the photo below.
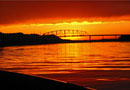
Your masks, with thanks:
<instances>
[{"instance_id":1,"label":"black wooded hill on the far shore left of the arch","mask_svg":"<svg viewBox=\"0 0 130 90\"><path fill-rule=\"evenodd\" d=\"M0 46L48 44L48 43L60 43L63 41L64 40L55 35L0 32Z\"/></svg>"}]
</instances>

